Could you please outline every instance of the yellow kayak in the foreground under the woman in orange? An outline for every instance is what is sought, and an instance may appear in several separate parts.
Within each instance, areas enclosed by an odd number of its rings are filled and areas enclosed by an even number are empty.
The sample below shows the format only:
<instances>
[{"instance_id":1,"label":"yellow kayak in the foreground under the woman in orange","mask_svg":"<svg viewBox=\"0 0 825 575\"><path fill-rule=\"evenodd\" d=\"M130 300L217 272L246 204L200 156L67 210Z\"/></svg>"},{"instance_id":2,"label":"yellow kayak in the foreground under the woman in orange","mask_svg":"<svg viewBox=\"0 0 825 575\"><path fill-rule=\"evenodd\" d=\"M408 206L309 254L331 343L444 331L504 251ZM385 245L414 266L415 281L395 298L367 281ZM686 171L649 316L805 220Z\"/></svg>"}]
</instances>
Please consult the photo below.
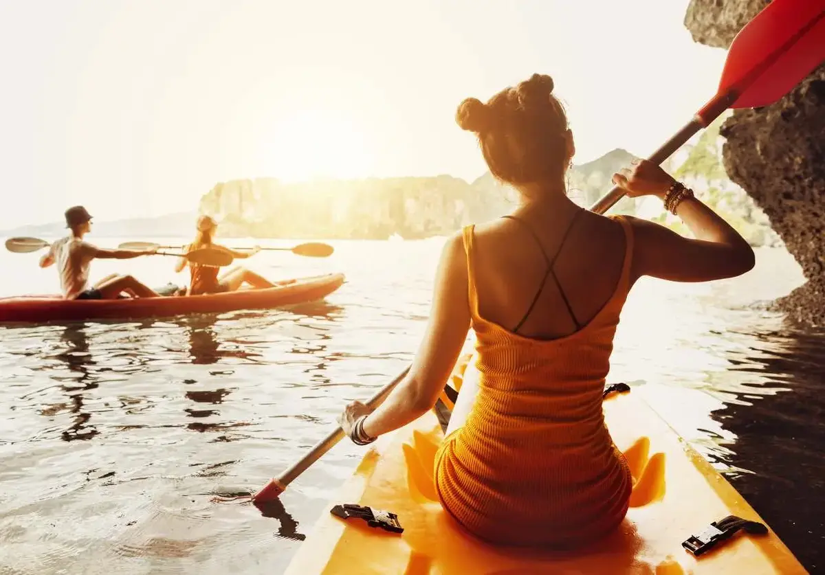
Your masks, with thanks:
<instances>
[{"instance_id":1,"label":"yellow kayak in the foreground under the woman in orange","mask_svg":"<svg viewBox=\"0 0 825 575\"><path fill-rule=\"evenodd\" d=\"M455 368L450 382L455 390L468 362L469 357L461 358ZM467 376L477 374L473 369ZM446 395L441 399L452 406ZM604 409L634 477L627 518L605 540L575 552L551 553L496 547L467 534L436 497L432 473L443 433L431 412L373 444L330 503L332 513L323 514L301 545L287 575L807 573L736 489L638 394L607 395ZM343 507L353 504L369 509ZM384 528L347 517L352 513L365 513ZM725 538L728 527L733 535Z\"/></svg>"}]
</instances>

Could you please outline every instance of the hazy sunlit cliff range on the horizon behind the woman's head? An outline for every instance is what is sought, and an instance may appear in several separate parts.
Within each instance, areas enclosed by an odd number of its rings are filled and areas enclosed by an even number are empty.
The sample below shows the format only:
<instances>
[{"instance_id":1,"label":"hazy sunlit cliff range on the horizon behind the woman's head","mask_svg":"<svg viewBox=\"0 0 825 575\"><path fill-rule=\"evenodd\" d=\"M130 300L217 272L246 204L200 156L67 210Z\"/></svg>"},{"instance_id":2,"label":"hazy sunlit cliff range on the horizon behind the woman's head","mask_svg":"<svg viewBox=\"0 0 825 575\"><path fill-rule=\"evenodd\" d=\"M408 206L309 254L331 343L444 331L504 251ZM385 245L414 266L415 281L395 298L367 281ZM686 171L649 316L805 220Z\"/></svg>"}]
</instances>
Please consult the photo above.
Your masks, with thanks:
<instances>
[{"instance_id":1,"label":"hazy sunlit cliff range on the horizon behind the woman's head","mask_svg":"<svg viewBox=\"0 0 825 575\"><path fill-rule=\"evenodd\" d=\"M613 150L570 172L573 199L594 202L610 188L610 177L633 157ZM492 175L473 183L450 175L370 178L284 184L274 178L232 180L215 185L200 200L200 213L221 221L233 236L290 238L407 239L450 234L512 210L516 195ZM634 200L618 208L634 211Z\"/></svg>"}]
</instances>

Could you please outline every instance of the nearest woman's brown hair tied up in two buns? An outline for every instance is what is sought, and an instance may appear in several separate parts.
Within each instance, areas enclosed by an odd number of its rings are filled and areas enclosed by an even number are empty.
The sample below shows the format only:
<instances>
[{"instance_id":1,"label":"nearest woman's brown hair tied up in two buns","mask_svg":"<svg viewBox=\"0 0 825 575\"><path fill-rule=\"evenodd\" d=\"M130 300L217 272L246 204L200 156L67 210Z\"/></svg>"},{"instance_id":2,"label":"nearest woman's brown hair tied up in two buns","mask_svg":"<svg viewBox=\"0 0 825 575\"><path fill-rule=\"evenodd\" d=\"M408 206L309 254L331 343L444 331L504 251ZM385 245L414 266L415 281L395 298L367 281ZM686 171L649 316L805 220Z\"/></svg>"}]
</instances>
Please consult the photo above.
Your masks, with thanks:
<instances>
[{"instance_id":1,"label":"nearest woman's brown hair tied up in two buns","mask_svg":"<svg viewBox=\"0 0 825 575\"><path fill-rule=\"evenodd\" d=\"M568 161L568 119L553 95L553 78L533 74L487 104L467 98L455 121L479 137L484 160L499 180L530 184L563 175Z\"/></svg>"}]
</instances>

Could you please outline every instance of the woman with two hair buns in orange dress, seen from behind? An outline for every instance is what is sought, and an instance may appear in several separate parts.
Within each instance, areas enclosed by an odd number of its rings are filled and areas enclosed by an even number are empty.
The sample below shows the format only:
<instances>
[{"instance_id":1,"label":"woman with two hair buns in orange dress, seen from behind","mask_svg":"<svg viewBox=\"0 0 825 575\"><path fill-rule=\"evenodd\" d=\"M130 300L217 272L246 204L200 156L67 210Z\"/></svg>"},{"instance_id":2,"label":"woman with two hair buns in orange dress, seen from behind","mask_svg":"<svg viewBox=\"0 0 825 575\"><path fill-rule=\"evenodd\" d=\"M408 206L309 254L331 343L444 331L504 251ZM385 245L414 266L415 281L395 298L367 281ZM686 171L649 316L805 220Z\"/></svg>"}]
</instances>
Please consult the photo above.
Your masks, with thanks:
<instances>
[{"instance_id":1,"label":"woman with two hair buns in orange dress, seen from behind","mask_svg":"<svg viewBox=\"0 0 825 575\"><path fill-rule=\"evenodd\" d=\"M463 386L436 456L451 517L504 545L574 548L619 526L631 477L606 428L601 394L629 289L643 275L730 278L753 251L691 190L648 161L614 175L630 197L653 195L695 239L634 217L602 217L568 199L575 151L553 80L535 74L487 104L462 102L490 171L521 202L507 217L446 241L431 316L406 378L373 413L347 405L359 444L431 409L470 327L477 386Z\"/></svg>"}]
</instances>

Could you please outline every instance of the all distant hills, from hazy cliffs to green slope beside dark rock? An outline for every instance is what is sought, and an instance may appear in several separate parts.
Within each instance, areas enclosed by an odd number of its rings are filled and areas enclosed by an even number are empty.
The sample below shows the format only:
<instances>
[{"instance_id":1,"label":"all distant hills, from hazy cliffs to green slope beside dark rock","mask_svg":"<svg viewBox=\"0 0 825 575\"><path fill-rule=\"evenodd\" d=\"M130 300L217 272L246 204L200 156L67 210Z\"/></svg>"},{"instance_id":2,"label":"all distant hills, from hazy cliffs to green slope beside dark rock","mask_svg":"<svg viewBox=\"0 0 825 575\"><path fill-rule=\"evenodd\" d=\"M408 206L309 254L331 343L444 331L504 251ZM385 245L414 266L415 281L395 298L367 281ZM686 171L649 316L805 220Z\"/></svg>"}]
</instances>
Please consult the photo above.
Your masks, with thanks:
<instances>
[{"instance_id":1,"label":"all distant hills, from hazy cliffs to green slope beside dark rock","mask_svg":"<svg viewBox=\"0 0 825 575\"><path fill-rule=\"evenodd\" d=\"M753 200L734 185L722 168L722 138L714 124L695 143L686 145L665 166L700 199L737 227L752 245L780 244ZM573 166L568 188L573 201L590 206L610 189L610 178L633 156L616 149L594 161ZM417 239L444 236L469 222L482 222L512 210L516 196L489 173L469 184L440 175L433 178L387 178L283 184L274 178L232 180L215 185L200 201L200 213L216 217L229 236ZM643 213L639 213L642 208ZM622 199L615 213L654 217L689 233L653 201Z\"/></svg>"}]
</instances>

